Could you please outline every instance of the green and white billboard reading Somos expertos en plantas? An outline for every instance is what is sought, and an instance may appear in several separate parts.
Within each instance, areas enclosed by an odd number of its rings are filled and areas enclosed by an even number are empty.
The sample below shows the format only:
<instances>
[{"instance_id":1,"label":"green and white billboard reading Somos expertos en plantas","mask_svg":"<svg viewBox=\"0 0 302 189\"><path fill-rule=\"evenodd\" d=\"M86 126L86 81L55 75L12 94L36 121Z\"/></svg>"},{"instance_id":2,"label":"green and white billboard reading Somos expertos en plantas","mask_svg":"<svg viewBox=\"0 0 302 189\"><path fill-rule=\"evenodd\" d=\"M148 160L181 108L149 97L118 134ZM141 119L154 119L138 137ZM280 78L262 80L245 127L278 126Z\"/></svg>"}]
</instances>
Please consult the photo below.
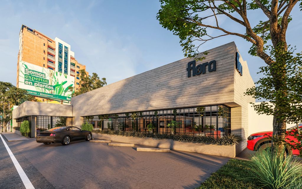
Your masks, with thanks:
<instances>
[{"instance_id":1,"label":"green and white billboard reading Somos expertos en plantas","mask_svg":"<svg viewBox=\"0 0 302 189\"><path fill-rule=\"evenodd\" d=\"M44 98L68 100L71 94L68 87L74 87L74 77L54 70L19 62L19 88L27 90L28 94Z\"/></svg>"}]
</instances>

